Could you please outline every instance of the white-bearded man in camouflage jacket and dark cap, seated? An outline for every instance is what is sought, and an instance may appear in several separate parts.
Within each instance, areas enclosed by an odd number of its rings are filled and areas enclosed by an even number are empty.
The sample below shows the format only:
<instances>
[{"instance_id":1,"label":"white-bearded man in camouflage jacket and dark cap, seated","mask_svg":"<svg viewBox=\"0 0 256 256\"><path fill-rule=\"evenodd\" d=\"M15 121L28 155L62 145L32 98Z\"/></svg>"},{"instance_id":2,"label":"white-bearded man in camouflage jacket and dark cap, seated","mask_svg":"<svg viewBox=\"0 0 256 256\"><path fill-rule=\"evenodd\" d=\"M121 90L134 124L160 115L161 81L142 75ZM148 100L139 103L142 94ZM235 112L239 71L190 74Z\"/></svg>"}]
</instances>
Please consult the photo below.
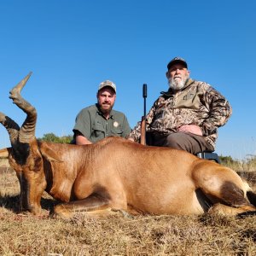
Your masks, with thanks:
<instances>
[{"instance_id":1,"label":"white-bearded man in camouflage jacket and dark cap, seated","mask_svg":"<svg viewBox=\"0 0 256 256\"><path fill-rule=\"evenodd\" d=\"M210 84L189 79L187 62L175 57L167 65L169 90L161 92L146 117L146 141L191 154L213 151L217 129L230 118L230 103ZM128 138L140 142L141 124Z\"/></svg>"}]
</instances>

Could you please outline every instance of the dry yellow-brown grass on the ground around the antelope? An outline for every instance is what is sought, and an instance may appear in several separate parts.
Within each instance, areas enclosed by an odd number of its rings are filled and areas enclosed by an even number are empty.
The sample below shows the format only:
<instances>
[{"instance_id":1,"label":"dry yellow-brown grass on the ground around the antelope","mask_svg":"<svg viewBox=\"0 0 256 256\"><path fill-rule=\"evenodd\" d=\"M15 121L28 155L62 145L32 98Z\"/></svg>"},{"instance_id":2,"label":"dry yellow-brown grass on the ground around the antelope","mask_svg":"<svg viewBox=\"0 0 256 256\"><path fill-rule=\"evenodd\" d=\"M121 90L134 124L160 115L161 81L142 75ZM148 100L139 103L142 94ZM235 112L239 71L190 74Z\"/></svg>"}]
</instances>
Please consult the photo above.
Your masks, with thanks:
<instances>
[{"instance_id":1,"label":"dry yellow-brown grass on the ground around the antelope","mask_svg":"<svg viewBox=\"0 0 256 256\"><path fill-rule=\"evenodd\" d=\"M0 183L1 255L256 255L255 216L63 220L47 217L55 201L45 194L37 218L17 213L19 183L8 166Z\"/></svg>"}]
</instances>

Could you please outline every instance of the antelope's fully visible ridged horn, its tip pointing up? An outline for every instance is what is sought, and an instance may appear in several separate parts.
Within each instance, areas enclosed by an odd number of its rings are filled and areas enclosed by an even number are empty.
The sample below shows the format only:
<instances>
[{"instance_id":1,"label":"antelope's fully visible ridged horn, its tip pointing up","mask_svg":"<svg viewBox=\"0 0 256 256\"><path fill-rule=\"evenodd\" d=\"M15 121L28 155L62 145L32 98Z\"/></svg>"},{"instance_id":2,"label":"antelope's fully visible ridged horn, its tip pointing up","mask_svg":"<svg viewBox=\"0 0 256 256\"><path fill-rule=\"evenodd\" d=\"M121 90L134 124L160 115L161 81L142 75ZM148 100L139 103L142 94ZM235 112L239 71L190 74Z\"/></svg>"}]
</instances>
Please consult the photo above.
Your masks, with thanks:
<instances>
[{"instance_id":1,"label":"antelope's fully visible ridged horn, its tip pointing up","mask_svg":"<svg viewBox=\"0 0 256 256\"><path fill-rule=\"evenodd\" d=\"M26 102L22 96L20 96L20 91L25 86L27 80L32 75L28 73L25 79L22 79L19 84L17 84L9 93L9 98L26 113L26 120L20 128L19 142L20 143L30 143L35 137L35 128L37 122L37 111L29 102Z\"/></svg>"}]
</instances>

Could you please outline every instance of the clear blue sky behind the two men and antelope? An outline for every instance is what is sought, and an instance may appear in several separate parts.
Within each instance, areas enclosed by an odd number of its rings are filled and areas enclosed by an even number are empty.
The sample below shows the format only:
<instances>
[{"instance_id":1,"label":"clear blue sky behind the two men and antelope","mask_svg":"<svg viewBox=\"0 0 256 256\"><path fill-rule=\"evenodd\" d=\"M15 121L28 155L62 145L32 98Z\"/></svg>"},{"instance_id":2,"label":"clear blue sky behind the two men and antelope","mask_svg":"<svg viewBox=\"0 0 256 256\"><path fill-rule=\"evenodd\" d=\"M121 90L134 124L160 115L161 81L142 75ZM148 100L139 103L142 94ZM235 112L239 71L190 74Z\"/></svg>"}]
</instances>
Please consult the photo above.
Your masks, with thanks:
<instances>
[{"instance_id":1,"label":"clear blue sky behind the two men and antelope","mask_svg":"<svg viewBox=\"0 0 256 256\"><path fill-rule=\"evenodd\" d=\"M167 89L166 64L189 63L233 108L218 154L256 154L256 2L253 0L41 0L0 2L0 111L20 125L25 114L9 90L32 71L22 95L38 110L37 137L72 134L81 108L96 102L105 79L117 84L114 108L131 127ZM9 146L0 127L0 148Z\"/></svg>"}]
</instances>

